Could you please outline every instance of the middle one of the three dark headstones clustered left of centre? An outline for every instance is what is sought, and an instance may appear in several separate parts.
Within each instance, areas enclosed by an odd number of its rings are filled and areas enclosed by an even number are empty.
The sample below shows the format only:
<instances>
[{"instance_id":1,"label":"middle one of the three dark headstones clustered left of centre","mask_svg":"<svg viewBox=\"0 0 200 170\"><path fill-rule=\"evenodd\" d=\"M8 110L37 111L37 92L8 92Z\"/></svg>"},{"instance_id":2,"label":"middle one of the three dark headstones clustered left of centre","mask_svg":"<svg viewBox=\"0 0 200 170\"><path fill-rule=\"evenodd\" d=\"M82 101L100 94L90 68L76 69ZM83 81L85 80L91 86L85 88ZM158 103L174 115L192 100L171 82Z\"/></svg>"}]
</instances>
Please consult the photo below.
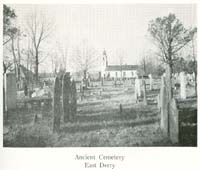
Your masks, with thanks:
<instances>
[{"instance_id":1,"label":"middle one of the three dark headstones clustered left of centre","mask_svg":"<svg viewBox=\"0 0 200 170\"><path fill-rule=\"evenodd\" d=\"M71 99L70 74L65 73L62 79L62 107L64 113L64 122L70 120L71 116L70 99Z\"/></svg>"}]
</instances>

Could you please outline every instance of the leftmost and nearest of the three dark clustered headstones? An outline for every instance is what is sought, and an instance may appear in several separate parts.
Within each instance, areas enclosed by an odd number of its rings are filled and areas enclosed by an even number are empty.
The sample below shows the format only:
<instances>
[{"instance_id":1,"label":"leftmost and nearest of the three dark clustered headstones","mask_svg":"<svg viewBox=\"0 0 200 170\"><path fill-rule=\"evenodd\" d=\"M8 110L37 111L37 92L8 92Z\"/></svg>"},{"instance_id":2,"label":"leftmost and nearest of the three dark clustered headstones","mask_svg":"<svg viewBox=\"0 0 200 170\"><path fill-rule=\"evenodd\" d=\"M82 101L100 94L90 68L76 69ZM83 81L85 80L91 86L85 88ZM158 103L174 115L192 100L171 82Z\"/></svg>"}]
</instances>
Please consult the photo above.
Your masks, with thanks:
<instances>
[{"instance_id":1,"label":"leftmost and nearest of the three dark clustered headstones","mask_svg":"<svg viewBox=\"0 0 200 170\"><path fill-rule=\"evenodd\" d=\"M54 82L54 91L53 91L53 131L59 132L60 130L60 117L61 117L61 103L60 103L60 82L59 78L56 77Z\"/></svg>"}]
</instances>

